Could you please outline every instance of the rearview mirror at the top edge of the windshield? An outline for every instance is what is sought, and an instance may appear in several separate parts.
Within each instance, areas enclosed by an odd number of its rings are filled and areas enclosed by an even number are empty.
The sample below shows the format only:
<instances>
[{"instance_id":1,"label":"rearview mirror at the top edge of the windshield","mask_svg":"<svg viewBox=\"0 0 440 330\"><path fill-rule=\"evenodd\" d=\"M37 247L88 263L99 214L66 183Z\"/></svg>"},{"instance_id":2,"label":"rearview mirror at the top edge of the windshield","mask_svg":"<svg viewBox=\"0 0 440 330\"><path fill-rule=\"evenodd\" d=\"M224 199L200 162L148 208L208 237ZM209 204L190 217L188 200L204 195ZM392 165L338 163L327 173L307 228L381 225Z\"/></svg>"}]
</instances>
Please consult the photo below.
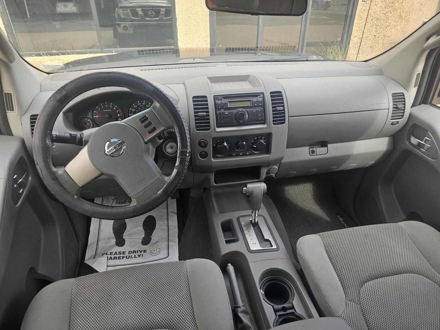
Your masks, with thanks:
<instances>
[{"instance_id":1,"label":"rearview mirror at the top edge of the windshield","mask_svg":"<svg viewBox=\"0 0 440 330\"><path fill-rule=\"evenodd\" d=\"M205 0L212 11L250 15L301 16L307 10L307 0Z\"/></svg>"}]
</instances>

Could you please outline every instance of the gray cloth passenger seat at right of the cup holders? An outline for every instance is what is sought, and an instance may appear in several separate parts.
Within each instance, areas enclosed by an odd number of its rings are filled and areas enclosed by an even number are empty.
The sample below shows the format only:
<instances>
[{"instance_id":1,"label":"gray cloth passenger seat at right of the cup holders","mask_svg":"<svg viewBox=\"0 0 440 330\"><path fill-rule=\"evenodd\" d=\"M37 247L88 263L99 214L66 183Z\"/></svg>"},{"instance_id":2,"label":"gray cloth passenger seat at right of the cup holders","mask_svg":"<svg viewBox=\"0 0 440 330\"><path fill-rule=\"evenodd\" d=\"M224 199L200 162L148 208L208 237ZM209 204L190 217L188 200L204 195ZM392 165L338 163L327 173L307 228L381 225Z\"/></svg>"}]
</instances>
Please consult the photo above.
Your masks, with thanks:
<instances>
[{"instance_id":1,"label":"gray cloth passenger seat at right of the cup holders","mask_svg":"<svg viewBox=\"0 0 440 330\"><path fill-rule=\"evenodd\" d=\"M325 316L356 330L440 329L440 233L404 221L307 235L300 264Z\"/></svg>"}]
</instances>

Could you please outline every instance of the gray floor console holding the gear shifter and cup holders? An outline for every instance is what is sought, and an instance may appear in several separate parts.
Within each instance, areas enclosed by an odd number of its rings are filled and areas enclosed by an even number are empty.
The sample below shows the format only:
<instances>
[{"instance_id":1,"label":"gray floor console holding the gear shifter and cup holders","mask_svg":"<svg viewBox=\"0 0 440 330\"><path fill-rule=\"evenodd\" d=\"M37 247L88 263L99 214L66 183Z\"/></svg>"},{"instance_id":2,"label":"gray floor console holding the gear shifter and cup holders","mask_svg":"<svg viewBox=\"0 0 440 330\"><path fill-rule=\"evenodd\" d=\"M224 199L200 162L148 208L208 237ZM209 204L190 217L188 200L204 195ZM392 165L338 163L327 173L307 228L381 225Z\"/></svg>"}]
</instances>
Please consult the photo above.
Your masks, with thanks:
<instances>
[{"instance_id":1,"label":"gray floor console holding the gear shifter and cup holders","mask_svg":"<svg viewBox=\"0 0 440 330\"><path fill-rule=\"evenodd\" d=\"M215 261L221 269L235 268L255 329L319 316L293 265L290 243L280 235L284 227L265 189L257 182L213 187L204 194Z\"/></svg>"}]
</instances>

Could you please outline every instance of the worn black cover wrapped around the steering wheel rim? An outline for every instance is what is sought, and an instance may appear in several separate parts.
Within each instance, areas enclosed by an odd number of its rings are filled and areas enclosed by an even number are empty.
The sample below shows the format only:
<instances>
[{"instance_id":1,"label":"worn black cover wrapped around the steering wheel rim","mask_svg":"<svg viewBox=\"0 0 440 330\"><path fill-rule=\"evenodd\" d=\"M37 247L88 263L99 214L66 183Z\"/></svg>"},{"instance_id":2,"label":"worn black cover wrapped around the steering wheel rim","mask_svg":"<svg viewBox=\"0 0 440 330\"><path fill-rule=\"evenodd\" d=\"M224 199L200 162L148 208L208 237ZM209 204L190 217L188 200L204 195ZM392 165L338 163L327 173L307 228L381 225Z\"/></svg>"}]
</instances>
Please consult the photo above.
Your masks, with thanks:
<instances>
[{"instance_id":1,"label":"worn black cover wrapped around the steering wheel rim","mask_svg":"<svg viewBox=\"0 0 440 330\"><path fill-rule=\"evenodd\" d=\"M135 205L110 206L100 205L81 198L78 195L66 191L54 174L52 164L52 145L50 141L51 131L62 109L77 96L92 89L103 87L128 88L136 94L144 94L153 97L174 121L179 151L176 158L176 166L160 192L146 201L138 201ZM116 220L128 219L147 213L161 205L177 189L185 175L191 150L189 131L176 104L154 84L140 77L121 72L95 72L75 78L64 84L55 91L41 110L33 133L33 157L37 171L48 190L60 202L69 208L88 216ZM78 187L79 190L79 187Z\"/></svg>"}]
</instances>

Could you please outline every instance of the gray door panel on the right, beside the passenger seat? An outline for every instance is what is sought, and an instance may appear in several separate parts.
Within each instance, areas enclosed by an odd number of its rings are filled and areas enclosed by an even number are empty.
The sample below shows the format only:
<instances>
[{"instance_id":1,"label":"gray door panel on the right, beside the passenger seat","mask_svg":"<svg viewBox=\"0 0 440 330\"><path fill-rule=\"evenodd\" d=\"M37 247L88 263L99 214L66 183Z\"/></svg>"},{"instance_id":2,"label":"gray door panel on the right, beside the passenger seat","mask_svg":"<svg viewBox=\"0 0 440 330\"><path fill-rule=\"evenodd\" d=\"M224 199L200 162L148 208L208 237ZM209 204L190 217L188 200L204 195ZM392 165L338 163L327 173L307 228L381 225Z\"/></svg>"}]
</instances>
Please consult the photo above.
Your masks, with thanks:
<instances>
[{"instance_id":1,"label":"gray door panel on the right, beside the passenger seat","mask_svg":"<svg viewBox=\"0 0 440 330\"><path fill-rule=\"evenodd\" d=\"M440 231L439 143L440 109L411 108L389 158L367 171L356 201L359 224L418 220Z\"/></svg>"}]
</instances>

